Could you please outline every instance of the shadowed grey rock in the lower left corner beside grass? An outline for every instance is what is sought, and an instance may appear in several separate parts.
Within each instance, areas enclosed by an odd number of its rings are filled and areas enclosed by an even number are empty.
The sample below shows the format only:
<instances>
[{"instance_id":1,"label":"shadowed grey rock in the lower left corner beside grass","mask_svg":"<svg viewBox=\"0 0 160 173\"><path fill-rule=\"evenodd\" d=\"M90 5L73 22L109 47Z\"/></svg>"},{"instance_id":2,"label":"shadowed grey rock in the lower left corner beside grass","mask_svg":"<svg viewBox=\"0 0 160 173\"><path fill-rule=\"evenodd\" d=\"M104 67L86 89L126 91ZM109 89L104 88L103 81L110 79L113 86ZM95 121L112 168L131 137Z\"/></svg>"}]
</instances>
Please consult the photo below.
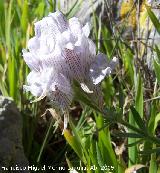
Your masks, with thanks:
<instances>
[{"instance_id":1,"label":"shadowed grey rock in the lower left corner beside grass","mask_svg":"<svg viewBox=\"0 0 160 173\"><path fill-rule=\"evenodd\" d=\"M21 114L11 98L0 96L0 173L28 165L22 145Z\"/></svg>"}]
</instances>

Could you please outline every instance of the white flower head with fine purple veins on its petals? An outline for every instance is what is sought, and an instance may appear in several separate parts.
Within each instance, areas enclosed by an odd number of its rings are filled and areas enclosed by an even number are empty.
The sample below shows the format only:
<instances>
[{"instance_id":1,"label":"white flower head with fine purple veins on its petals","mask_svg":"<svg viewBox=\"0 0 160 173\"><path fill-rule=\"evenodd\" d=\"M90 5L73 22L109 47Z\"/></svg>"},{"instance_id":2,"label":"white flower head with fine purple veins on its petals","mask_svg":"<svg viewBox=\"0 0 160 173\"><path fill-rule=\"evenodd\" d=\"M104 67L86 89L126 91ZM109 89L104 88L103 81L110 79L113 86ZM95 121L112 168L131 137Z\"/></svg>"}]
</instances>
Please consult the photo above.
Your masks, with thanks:
<instances>
[{"instance_id":1,"label":"white flower head with fine purple veins on its petals","mask_svg":"<svg viewBox=\"0 0 160 173\"><path fill-rule=\"evenodd\" d=\"M67 21L60 11L36 22L35 36L28 41L28 50L23 50L31 70L24 88L38 100L47 96L55 107L66 112L73 100L72 82L77 80L101 104L98 84L112 72L117 59L109 62L105 55L96 55L89 33L88 23L82 26L76 17Z\"/></svg>"}]
</instances>

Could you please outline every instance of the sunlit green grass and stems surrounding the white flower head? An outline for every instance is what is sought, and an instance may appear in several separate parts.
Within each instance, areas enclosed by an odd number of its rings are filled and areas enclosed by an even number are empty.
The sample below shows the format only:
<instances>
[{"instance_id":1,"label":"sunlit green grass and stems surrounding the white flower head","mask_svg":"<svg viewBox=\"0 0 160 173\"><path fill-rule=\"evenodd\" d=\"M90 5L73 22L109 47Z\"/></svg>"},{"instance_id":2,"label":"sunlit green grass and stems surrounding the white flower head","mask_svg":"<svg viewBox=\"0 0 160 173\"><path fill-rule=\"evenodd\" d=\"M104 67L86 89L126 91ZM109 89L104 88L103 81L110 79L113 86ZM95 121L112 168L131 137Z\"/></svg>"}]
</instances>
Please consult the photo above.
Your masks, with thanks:
<instances>
[{"instance_id":1,"label":"sunlit green grass and stems surrounding the white flower head","mask_svg":"<svg viewBox=\"0 0 160 173\"><path fill-rule=\"evenodd\" d=\"M87 173L160 172L160 49L155 34L149 34L154 30L160 34L160 22L155 5L145 0L124 3L117 7L120 15L116 18L108 1L104 1L104 13L101 6L98 12L94 8L91 12L90 37L97 51L119 58L115 73L102 83L105 109L99 111L75 84L69 130L62 135L46 100L30 103L33 96L23 91L29 69L22 58L22 49L34 35L34 22L61 9L61 4L0 0L0 91L12 97L21 110L30 165L53 166L55 172L60 167L65 172L72 167ZM67 17L79 8L81 3L76 1Z\"/></svg>"}]
</instances>

